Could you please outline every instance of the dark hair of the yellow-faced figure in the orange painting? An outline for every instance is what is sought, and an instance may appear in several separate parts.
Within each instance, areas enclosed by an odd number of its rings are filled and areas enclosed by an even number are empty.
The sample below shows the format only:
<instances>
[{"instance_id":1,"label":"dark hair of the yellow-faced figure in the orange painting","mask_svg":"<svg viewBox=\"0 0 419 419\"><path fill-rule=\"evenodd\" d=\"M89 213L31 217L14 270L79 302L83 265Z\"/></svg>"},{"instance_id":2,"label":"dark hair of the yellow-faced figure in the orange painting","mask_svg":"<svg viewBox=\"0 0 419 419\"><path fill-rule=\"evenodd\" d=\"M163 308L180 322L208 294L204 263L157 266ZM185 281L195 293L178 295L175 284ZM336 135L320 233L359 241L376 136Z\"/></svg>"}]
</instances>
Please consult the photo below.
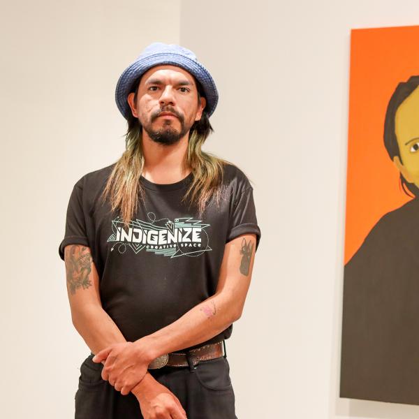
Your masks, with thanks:
<instances>
[{"instance_id":1,"label":"dark hair of the yellow-faced figure in the orange painting","mask_svg":"<svg viewBox=\"0 0 419 419\"><path fill-rule=\"evenodd\" d=\"M413 91L419 86L419 75L413 75L407 82L400 82L394 93L392 94L390 101L388 102L387 112L385 112L384 121L384 145L385 149L390 156L390 159L394 159L398 156L400 162L403 164L402 157L400 156L399 144L396 137L396 112L400 105L408 98ZM404 179L402 173L400 173L400 183L404 193L409 196L419 196L419 188L416 184L409 183Z\"/></svg>"}]
</instances>

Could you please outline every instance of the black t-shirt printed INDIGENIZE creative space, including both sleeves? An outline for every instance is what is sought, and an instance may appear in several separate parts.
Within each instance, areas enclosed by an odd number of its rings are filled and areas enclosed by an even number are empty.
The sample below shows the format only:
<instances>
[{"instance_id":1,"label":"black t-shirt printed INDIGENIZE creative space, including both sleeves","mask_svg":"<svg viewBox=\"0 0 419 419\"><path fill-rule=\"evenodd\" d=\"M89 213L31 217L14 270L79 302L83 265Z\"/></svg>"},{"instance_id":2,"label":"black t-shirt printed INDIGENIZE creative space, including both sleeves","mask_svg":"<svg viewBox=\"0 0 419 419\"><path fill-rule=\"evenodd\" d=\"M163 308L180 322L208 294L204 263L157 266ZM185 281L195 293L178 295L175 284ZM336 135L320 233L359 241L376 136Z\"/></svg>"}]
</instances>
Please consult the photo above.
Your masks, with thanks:
<instances>
[{"instance_id":1,"label":"black t-shirt printed INDIGENIZE creative space, including both sleeves","mask_svg":"<svg viewBox=\"0 0 419 419\"><path fill-rule=\"evenodd\" d=\"M64 260L67 244L90 248L103 309L125 339L135 341L214 295L226 242L256 233L257 250L260 228L249 179L228 164L221 204L210 201L201 219L192 206L181 203L192 173L173 184L155 184L141 176L145 201L139 198L138 212L126 229L110 204L102 205L101 193L114 166L89 172L76 182L59 256ZM232 329L230 325L189 348L228 339Z\"/></svg>"}]
</instances>

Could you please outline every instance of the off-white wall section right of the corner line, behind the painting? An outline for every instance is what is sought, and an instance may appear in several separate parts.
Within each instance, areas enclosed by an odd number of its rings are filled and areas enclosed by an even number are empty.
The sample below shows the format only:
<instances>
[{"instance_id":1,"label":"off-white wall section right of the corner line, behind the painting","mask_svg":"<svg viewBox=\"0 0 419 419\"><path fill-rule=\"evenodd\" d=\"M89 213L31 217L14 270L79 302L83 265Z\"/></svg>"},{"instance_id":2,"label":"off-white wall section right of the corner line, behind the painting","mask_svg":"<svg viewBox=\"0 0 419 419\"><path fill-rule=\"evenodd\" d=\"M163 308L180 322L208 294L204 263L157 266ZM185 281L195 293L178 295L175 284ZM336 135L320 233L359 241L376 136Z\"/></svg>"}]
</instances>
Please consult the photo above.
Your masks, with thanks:
<instances>
[{"instance_id":1,"label":"off-white wall section right of the corner line, behind the painting","mask_svg":"<svg viewBox=\"0 0 419 419\"><path fill-rule=\"evenodd\" d=\"M207 149L253 179L262 231L227 341L240 419L419 416L338 390L350 29L418 15L410 0L182 1L180 40L220 90Z\"/></svg>"}]
</instances>

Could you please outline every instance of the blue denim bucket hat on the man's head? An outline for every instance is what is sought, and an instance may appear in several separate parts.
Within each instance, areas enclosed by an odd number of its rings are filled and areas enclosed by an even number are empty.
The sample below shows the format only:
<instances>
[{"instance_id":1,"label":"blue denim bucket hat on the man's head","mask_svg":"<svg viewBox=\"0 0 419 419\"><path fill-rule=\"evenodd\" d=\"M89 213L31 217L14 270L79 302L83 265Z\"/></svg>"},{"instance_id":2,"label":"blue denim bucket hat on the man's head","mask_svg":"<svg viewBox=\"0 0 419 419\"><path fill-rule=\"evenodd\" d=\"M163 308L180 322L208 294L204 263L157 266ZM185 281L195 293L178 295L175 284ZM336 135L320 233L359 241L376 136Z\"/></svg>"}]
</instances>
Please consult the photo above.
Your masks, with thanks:
<instances>
[{"instance_id":1,"label":"blue denim bucket hat on the man's head","mask_svg":"<svg viewBox=\"0 0 419 419\"><path fill-rule=\"evenodd\" d=\"M168 45L155 42L146 47L133 64L128 66L119 77L115 89L115 101L124 118L128 119L128 116L132 115L126 98L131 92L135 80L138 80L149 68L162 64L172 64L173 66L184 68L200 82L207 100L205 110L210 117L216 108L219 98L210 72L198 62L196 55L191 50L175 44Z\"/></svg>"}]
</instances>

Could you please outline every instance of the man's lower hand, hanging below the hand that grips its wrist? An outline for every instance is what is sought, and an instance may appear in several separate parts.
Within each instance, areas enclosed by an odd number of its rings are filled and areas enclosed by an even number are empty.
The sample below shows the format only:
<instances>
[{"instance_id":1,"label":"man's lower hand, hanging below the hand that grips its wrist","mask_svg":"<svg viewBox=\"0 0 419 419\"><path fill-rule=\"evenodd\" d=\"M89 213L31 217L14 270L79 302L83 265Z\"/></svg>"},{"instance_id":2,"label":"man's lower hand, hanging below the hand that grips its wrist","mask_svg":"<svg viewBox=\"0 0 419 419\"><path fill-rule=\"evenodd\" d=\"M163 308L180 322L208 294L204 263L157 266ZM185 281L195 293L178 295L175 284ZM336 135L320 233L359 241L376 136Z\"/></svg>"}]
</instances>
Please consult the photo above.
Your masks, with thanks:
<instances>
[{"instance_id":1,"label":"man's lower hand, hanging below the hand that grips its wrist","mask_svg":"<svg viewBox=\"0 0 419 419\"><path fill-rule=\"evenodd\" d=\"M179 399L151 374L145 374L140 384L133 389L140 403L144 419L187 419Z\"/></svg>"}]
</instances>

